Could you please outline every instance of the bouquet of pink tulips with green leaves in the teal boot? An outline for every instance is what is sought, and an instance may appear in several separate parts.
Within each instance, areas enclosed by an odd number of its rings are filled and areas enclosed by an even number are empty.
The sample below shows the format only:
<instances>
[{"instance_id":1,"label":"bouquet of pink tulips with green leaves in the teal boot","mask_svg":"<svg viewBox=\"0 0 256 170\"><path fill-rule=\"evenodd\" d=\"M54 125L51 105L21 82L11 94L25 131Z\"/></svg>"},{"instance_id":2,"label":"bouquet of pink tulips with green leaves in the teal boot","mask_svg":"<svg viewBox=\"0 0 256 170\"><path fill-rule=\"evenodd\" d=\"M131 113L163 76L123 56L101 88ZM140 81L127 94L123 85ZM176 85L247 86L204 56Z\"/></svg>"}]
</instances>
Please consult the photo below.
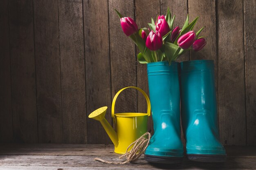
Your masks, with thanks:
<instances>
[{"instance_id":1,"label":"bouquet of pink tulips with green leaves in the teal boot","mask_svg":"<svg viewBox=\"0 0 256 170\"><path fill-rule=\"evenodd\" d=\"M151 23L148 23L150 28L138 29L132 18L123 17L116 9L115 11L120 18L124 33L139 48L140 53L137 58L141 64L168 61L171 65L171 61L177 60L186 51L190 49L199 51L206 44L204 36L199 37L204 27L196 33L193 31L199 17L189 23L188 15L182 29L179 26L173 29L175 15L172 18L168 8L166 16L158 15L156 22L151 18Z\"/></svg>"}]
</instances>

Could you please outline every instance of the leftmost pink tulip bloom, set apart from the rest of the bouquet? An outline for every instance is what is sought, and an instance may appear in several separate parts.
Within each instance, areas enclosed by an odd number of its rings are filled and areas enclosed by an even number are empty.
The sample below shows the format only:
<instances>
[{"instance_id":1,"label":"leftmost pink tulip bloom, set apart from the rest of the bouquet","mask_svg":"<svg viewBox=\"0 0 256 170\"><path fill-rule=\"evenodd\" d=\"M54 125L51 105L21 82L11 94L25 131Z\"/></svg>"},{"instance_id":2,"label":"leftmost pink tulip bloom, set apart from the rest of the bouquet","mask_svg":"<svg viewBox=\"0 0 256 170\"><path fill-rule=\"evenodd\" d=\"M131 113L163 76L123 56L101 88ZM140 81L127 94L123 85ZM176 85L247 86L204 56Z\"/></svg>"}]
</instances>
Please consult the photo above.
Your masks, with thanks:
<instances>
[{"instance_id":1,"label":"leftmost pink tulip bloom, set apart from the rest of the bouquet","mask_svg":"<svg viewBox=\"0 0 256 170\"><path fill-rule=\"evenodd\" d=\"M126 36L130 36L133 33L136 33L138 30L138 26L134 20L130 17L124 17L120 19L121 27Z\"/></svg>"}]
</instances>

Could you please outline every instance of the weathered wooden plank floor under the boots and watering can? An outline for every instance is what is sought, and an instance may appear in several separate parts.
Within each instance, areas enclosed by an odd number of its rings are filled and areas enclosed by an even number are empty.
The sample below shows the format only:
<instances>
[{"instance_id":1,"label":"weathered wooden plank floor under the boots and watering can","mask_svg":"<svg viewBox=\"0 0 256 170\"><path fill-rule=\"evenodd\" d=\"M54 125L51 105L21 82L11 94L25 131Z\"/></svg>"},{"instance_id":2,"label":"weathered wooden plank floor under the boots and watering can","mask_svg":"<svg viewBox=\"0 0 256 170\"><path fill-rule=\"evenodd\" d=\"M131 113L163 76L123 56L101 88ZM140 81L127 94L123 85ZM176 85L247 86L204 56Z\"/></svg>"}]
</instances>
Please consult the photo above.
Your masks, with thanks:
<instances>
[{"instance_id":1,"label":"weathered wooden plank floor under the boots and watering can","mask_svg":"<svg viewBox=\"0 0 256 170\"><path fill-rule=\"evenodd\" d=\"M113 145L1 144L0 170L155 170L155 169L256 169L256 146L227 146L227 162L200 163L184 158L175 165L153 165L141 157L124 165L94 161L98 157L120 161Z\"/></svg>"}]
</instances>

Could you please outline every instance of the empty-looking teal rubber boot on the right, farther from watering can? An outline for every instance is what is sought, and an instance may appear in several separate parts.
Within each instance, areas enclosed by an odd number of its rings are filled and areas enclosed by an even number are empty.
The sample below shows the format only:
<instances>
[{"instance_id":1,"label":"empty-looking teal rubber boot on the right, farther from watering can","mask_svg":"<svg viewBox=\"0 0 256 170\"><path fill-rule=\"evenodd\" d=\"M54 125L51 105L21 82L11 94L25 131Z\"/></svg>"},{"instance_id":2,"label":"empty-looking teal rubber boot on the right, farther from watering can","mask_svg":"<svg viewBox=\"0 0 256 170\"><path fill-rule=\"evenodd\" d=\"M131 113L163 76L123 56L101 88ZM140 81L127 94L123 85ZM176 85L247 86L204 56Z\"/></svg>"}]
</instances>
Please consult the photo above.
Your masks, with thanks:
<instances>
[{"instance_id":1,"label":"empty-looking teal rubber boot on the right, farther from watering can","mask_svg":"<svg viewBox=\"0 0 256 170\"><path fill-rule=\"evenodd\" d=\"M186 155L192 161L226 161L219 139L213 60L186 61L180 66Z\"/></svg>"}]
</instances>

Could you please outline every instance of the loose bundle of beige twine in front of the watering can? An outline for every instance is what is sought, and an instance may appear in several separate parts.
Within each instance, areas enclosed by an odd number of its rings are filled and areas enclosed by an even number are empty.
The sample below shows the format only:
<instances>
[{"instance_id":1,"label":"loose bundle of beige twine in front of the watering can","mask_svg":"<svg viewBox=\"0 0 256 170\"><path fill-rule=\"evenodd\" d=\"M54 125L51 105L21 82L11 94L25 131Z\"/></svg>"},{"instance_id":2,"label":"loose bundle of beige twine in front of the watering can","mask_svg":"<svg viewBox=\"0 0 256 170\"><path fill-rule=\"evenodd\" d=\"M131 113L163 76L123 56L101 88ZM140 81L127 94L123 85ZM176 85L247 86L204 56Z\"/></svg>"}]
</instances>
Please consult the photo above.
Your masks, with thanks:
<instances>
[{"instance_id":1,"label":"loose bundle of beige twine in front of the watering can","mask_svg":"<svg viewBox=\"0 0 256 170\"><path fill-rule=\"evenodd\" d=\"M122 159L123 157L126 157L126 160L123 162L110 162L110 161L104 161L103 159L100 158L95 158L95 161L100 161L103 163L108 163L108 164L125 164L128 162L134 162L139 159L139 157L144 154L146 148L148 147L149 140L151 138L151 135L149 132L146 132L144 135L139 137L136 141L132 142L128 148L126 149L126 153L124 155L121 155L119 159ZM134 144L132 149L128 152L129 148Z\"/></svg>"}]
</instances>

